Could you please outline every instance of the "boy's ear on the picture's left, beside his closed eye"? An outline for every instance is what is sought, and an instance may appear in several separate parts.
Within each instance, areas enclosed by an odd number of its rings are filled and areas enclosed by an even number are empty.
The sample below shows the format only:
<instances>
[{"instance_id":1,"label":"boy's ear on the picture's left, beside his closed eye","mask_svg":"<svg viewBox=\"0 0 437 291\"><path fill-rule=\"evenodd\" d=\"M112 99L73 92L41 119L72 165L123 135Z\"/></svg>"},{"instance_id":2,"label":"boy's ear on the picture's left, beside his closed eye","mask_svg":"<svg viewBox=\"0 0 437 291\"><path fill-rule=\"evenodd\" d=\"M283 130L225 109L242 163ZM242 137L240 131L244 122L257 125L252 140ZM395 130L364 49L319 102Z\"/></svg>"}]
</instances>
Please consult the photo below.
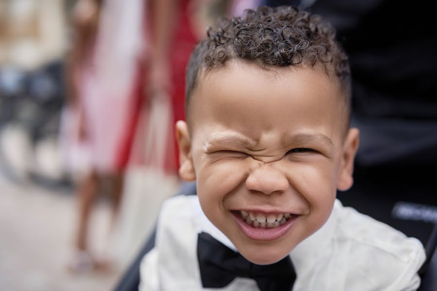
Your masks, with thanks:
<instances>
[{"instance_id":1,"label":"boy's ear on the picture's left, beside his closed eye","mask_svg":"<svg viewBox=\"0 0 437 291\"><path fill-rule=\"evenodd\" d=\"M179 120L176 123L176 140L179 146L179 176L185 181L190 182L196 180L196 172L194 171L193 159L191 156L191 139L188 132L188 126L185 121Z\"/></svg>"}]
</instances>

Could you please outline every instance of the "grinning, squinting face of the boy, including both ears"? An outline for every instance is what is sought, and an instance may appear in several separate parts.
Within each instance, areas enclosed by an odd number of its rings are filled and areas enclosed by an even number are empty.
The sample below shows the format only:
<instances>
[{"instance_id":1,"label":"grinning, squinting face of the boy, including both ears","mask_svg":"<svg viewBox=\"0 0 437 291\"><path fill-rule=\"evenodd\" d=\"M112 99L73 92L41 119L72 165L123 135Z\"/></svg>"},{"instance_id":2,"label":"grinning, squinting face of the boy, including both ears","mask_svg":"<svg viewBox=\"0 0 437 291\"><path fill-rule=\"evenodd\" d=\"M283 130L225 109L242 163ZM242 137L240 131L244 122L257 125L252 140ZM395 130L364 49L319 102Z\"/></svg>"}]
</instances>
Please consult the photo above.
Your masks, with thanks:
<instances>
[{"instance_id":1,"label":"grinning, squinting face of the boy, including both ears","mask_svg":"<svg viewBox=\"0 0 437 291\"><path fill-rule=\"evenodd\" d=\"M352 185L358 131L345 134L341 94L308 67L230 61L200 77L190 130L177 124L180 175L197 181L205 215L246 259L286 257Z\"/></svg>"}]
</instances>

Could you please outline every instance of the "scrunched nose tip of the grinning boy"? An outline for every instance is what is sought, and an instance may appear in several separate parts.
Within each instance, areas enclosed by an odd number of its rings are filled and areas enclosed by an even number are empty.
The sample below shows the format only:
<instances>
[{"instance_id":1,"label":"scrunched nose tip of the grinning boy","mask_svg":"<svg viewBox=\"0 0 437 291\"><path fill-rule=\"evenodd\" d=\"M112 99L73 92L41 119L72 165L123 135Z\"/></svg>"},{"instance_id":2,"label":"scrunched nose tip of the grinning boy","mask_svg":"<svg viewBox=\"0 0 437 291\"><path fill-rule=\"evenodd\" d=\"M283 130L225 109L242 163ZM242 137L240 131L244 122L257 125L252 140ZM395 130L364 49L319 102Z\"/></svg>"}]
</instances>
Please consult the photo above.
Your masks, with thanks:
<instances>
[{"instance_id":1,"label":"scrunched nose tip of the grinning boy","mask_svg":"<svg viewBox=\"0 0 437 291\"><path fill-rule=\"evenodd\" d=\"M288 180L280 171L269 164L264 164L249 175L246 179L246 187L264 194L284 192L288 189Z\"/></svg>"}]
</instances>

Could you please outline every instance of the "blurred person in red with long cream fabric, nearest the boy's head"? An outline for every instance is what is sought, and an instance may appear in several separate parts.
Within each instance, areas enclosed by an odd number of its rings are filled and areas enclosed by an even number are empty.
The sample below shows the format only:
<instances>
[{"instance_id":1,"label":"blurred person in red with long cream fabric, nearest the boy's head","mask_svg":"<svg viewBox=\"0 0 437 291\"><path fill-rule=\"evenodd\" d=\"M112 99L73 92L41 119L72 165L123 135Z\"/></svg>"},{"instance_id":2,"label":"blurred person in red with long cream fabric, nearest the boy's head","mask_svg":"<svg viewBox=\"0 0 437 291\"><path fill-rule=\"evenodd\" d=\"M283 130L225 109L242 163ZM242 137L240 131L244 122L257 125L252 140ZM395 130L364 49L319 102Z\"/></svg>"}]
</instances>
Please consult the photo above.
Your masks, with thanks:
<instances>
[{"instance_id":1,"label":"blurred person in red with long cream fabric, nearest the boy's head","mask_svg":"<svg viewBox=\"0 0 437 291\"><path fill-rule=\"evenodd\" d=\"M115 249L120 261L131 259L151 231L161 203L180 182L173 128L175 120L184 119L185 66L197 39L194 2L143 1L144 43L135 77L142 106L118 221Z\"/></svg>"}]
</instances>

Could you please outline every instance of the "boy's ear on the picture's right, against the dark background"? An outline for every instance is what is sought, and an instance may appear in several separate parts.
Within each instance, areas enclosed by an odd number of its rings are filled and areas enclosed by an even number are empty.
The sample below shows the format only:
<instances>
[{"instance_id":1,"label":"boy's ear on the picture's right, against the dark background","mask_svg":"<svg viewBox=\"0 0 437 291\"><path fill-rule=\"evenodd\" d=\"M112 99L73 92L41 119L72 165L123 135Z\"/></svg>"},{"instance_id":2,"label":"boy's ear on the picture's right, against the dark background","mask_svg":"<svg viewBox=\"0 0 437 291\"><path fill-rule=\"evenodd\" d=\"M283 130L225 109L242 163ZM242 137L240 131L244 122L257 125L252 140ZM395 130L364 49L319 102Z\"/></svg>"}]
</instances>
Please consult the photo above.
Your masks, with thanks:
<instances>
[{"instance_id":1,"label":"boy's ear on the picture's right, against the dark background","mask_svg":"<svg viewBox=\"0 0 437 291\"><path fill-rule=\"evenodd\" d=\"M352 128L348 130L346 135L340 161L340 173L337 181L337 189L340 191L346 191L352 187L353 161L356 151L358 150L359 134L358 129Z\"/></svg>"}]
</instances>

